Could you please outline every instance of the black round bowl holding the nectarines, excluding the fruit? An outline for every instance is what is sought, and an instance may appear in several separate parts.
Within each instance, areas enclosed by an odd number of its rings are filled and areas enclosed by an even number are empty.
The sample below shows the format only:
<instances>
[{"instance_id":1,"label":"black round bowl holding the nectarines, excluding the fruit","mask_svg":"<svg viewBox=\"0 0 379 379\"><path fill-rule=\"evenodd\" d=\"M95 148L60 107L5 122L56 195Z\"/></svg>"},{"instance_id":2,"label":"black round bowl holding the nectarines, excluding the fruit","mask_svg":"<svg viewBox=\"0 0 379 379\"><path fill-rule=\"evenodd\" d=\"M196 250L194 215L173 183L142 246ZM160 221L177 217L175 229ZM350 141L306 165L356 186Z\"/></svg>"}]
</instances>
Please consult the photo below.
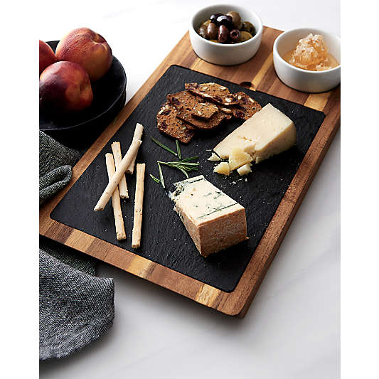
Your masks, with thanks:
<instances>
[{"instance_id":1,"label":"black round bowl holding the nectarines, excluding the fruit","mask_svg":"<svg viewBox=\"0 0 379 379\"><path fill-rule=\"evenodd\" d=\"M48 45L57 47L59 41ZM124 107L127 76L122 64L113 57L110 70L92 83L93 101L80 112L55 115L40 109L40 130L68 146L90 146Z\"/></svg>"}]
</instances>

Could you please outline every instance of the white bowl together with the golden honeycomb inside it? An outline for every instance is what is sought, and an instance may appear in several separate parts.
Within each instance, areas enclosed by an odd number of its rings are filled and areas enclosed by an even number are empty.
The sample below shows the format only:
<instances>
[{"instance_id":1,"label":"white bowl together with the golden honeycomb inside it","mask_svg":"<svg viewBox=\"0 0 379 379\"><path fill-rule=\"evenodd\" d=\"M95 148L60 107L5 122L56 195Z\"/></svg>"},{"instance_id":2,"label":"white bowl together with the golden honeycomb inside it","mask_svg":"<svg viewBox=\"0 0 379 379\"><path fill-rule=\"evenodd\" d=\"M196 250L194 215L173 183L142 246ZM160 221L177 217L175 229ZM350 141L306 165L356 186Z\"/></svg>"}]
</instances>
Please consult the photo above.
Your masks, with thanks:
<instances>
[{"instance_id":1,"label":"white bowl together with the golden honeycomb inside it","mask_svg":"<svg viewBox=\"0 0 379 379\"><path fill-rule=\"evenodd\" d=\"M299 28L282 33L274 42L273 59L279 79L294 90L326 92L341 82L341 41L326 31Z\"/></svg>"}]
</instances>

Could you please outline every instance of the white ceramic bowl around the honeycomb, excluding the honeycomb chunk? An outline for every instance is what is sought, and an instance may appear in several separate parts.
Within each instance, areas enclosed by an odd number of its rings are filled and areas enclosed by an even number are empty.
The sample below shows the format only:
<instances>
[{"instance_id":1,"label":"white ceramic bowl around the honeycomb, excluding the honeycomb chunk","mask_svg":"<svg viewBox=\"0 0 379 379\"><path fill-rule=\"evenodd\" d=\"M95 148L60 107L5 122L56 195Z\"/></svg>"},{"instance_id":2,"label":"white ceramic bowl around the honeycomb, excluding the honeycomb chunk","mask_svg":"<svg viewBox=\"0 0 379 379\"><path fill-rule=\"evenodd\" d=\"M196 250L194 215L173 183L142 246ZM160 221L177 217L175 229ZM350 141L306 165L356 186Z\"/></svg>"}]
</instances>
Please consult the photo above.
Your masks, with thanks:
<instances>
[{"instance_id":1,"label":"white ceramic bowl around the honeycomb, excluding the honeycomb chunk","mask_svg":"<svg viewBox=\"0 0 379 379\"><path fill-rule=\"evenodd\" d=\"M299 28L282 33L274 42L274 68L279 79L285 85L303 92L326 92L341 82L341 65L325 71L309 71L294 67L287 63L282 56L296 47L300 38L309 33L321 34L329 48L329 53L341 63L341 41L326 31L314 28Z\"/></svg>"}]
</instances>

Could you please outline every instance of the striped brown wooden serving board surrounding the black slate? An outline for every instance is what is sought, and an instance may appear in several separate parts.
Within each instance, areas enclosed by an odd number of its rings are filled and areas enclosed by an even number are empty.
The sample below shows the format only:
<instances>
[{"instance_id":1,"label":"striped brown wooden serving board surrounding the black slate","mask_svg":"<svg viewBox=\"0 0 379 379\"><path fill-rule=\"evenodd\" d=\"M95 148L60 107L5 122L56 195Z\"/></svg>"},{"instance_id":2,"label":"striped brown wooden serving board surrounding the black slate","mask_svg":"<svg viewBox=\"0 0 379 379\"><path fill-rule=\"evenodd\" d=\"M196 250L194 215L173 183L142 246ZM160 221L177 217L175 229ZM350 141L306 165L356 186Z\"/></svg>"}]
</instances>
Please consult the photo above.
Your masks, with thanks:
<instances>
[{"instance_id":1,"label":"striped brown wooden serving board surrounding the black slate","mask_svg":"<svg viewBox=\"0 0 379 379\"><path fill-rule=\"evenodd\" d=\"M269 264L272 262L272 259L294 218L294 214L296 213L297 208L299 208L299 205L309 188L309 184L311 183L314 174L316 174L316 170L319 168L326 150L339 127L340 119L339 87L331 92L309 95L290 89L282 84L277 78L272 65L272 44L274 39L280 33L281 31L265 28L262 38L262 46L257 55L247 63L233 67L211 65L210 63L200 60L195 53L193 53L187 33L161 65L159 65L159 68L154 71L149 80L144 83L132 100L128 102L124 109L114 119L114 122L105 129L85 155L82 156L82 159L80 159L73 169L73 179L70 184L41 208L41 235L45 235L46 237L50 237L53 240L73 247L76 250L97 257L104 262L124 269L127 272L131 272L139 277L143 277L150 282L159 284L174 292L183 294L186 297L198 301L205 306L222 311L225 314L240 317L245 316L245 313L257 292L257 288L259 287L260 282L262 282L265 272L267 271ZM148 252L145 252L144 256L137 255L134 252L127 250L127 245L115 245L109 239L107 242L107 238L102 237L101 233L93 233L90 230L82 228L80 224L73 227L74 224L70 221L70 218L64 223L53 219L65 220L62 216L62 209L64 209L62 204L64 205L65 201L67 203L67 199L70 198L70 193L75 193L75 188L77 189L80 187L81 183L85 180L85 175L91 171L91 167L93 169L96 166L95 159L100 151L105 149L107 144L115 140L113 137L114 134L120 129L120 127L122 127L122 125L125 126L127 122L129 122L128 117L139 106L139 103L144 100L144 97L148 92L154 86L159 85L159 79L166 73L171 65L181 65L200 73L213 75L216 78L220 78L220 80L228 80L243 85L250 90L267 92L270 95L282 97L285 100L305 105L314 110L322 111L326 115L321 127L317 126L317 129L319 128L318 132L316 129L316 136L312 136L313 142L311 142L309 149L308 146L306 146L304 155L301 156L299 169L297 169L294 176L291 176L292 181L290 181L289 186L286 186L287 191L285 191L284 196L280 196L282 200L280 201L279 199L279 206L277 208L275 207L276 211L272 211L274 215L273 217L270 215L269 225L267 228L265 225L262 238L257 240L255 251L251 252L249 260L245 262L241 274L238 275L237 281L234 284L233 282L224 283L211 281L207 280L207 277L201 276L198 276L196 279L193 277L196 275L192 275L192 277L190 276L191 272L178 272L177 269L166 267L168 266L166 264L161 265L156 260L154 262L154 259L151 258ZM171 69L172 68L170 68L170 70ZM257 92L256 95L259 96L260 93ZM263 99L264 96L262 97L262 100ZM296 110L296 108L299 108L299 106L294 105L294 110ZM302 108L305 109L304 107ZM317 117L316 113L317 112L315 112L315 117ZM135 122L133 117L131 117L130 122L132 121ZM152 122L154 122L154 125L149 125L149 127L155 128L155 120L151 120L150 124ZM123 132L124 129L125 128L120 129L119 132ZM184 149L186 148L183 148L183 150ZM148 167L148 169L149 172L151 172L151 167ZM85 175L82 176L83 173L85 173ZM203 174L203 172L201 172L201 174ZM80 178L80 176L82 177ZM80 181L78 181L79 178ZM149 180L150 178L146 178L145 183ZM78 183L76 183L77 181ZM74 183L75 187L71 190L70 188L73 187ZM102 183L100 184L103 185ZM132 186L132 188L134 188L134 186ZM221 189L224 190L224 188ZM68 193L69 190L70 193ZM66 193L68 193L68 196L65 196ZM73 198L73 196L71 196L71 198ZM60 203L62 199L63 201ZM236 200L238 201L238 199ZM94 201L96 201L96 199L94 199ZM58 203L60 203L60 206L57 207ZM52 213L53 218L51 217ZM112 213L110 214L112 215ZM144 216L145 215L146 213L144 213ZM151 233L154 233L154 231L151 231ZM97 235L97 237L94 235ZM142 243L144 243L144 240L142 240ZM171 267L174 266L171 265ZM210 284L207 284L207 282Z\"/></svg>"}]
</instances>

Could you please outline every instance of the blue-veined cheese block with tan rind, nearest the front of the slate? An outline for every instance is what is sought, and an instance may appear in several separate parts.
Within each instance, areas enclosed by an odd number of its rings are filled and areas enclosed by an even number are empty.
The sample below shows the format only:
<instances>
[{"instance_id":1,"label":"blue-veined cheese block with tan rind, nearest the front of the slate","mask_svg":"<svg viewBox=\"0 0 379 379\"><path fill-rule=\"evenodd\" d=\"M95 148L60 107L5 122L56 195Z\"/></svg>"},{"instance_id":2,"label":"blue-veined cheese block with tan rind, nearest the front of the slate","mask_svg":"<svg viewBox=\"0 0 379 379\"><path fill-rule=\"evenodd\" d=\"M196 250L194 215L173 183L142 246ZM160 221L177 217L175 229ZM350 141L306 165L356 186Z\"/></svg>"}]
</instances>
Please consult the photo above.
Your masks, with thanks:
<instances>
[{"instance_id":1,"label":"blue-veined cheese block with tan rind, nearest the front of the slate","mask_svg":"<svg viewBox=\"0 0 379 379\"><path fill-rule=\"evenodd\" d=\"M245 208L204 176L175 183L175 210L204 257L247 239Z\"/></svg>"}]
</instances>

